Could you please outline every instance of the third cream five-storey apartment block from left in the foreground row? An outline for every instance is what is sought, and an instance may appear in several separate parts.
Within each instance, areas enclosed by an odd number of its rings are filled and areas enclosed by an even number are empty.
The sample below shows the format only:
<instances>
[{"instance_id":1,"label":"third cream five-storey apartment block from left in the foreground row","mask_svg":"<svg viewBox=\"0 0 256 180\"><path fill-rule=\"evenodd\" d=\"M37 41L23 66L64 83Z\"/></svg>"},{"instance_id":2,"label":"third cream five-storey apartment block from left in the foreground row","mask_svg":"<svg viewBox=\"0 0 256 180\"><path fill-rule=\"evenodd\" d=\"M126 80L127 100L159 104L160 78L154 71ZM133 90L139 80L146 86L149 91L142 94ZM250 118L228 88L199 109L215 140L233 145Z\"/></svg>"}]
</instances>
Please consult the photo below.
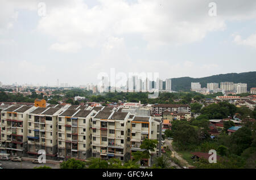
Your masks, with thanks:
<instances>
[{"instance_id":1,"label":"third cream five-storey apartment block from left in the foreground row","mask_svg":"<svg viewBox=\"0 0 256 180\"><path fill-rule=\"evenodd\" d=\"M58 157L91 157L91 126L95 110L67 109L58 116Z\"/></svg>"}]
</instances>

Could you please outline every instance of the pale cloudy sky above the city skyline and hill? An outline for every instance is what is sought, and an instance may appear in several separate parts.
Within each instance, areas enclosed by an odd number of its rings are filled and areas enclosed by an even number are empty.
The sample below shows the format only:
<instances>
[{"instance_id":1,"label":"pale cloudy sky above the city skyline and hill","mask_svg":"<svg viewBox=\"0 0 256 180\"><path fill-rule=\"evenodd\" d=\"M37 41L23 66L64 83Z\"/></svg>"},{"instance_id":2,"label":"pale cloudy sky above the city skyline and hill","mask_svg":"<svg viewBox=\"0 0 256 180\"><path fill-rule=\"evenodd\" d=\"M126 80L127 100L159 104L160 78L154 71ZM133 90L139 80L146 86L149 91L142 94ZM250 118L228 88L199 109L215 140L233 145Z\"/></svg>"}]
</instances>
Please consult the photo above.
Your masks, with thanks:
<instances>
[{"instance_id":1,"label":"pale cloudy sky above the city skyline and hill","mask_svg":"<svg viewBox=\"0 0 256 180\"><path fill-rule=\"evenodd\" d=\"M96 84L110 68L201 78L255 58L255 0L0 1L3 84Z\"/></svg>"}]
</instances>

